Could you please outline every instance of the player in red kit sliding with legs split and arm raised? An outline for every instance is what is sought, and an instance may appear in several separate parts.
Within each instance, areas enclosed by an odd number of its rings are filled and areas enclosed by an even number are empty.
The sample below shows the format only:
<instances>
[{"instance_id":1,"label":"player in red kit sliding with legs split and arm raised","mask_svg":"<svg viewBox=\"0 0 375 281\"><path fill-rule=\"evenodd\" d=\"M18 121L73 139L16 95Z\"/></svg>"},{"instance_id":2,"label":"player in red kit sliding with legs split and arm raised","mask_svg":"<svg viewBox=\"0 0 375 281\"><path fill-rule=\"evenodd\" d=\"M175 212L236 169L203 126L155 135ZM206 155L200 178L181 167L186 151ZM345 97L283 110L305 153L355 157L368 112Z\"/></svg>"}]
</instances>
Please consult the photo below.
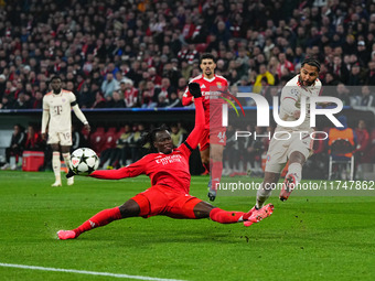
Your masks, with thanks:
<instances>
[{"instance_id":1,"label":"player in red kit sliding with legs split and arm raised","mask_svg":"<svg viewBox=\"0 0 375 281\"><path fill-rule=\"evenodd\" d=\"M227 212L214 207L189 194L191 175L189 156L197 147L205 125L200 85L191 83L190 93L195 97L195 127L185 142L173 149L170 133L158 128L147 139L158 153L150 153L141 160L119 170L95 171L89 176L104 180L120 180L147 174L151 187L137 194L119 207L104 209L73 230L57 231L58 239L74 239L93 228L127 217L151 217L163 215L172 218L211 218L221 224L244 221L245 226L270 216L274 206L268 204L253 215L253 212ZM74 175L72 171L67 176Z\"/></svg>"}]
</instances>

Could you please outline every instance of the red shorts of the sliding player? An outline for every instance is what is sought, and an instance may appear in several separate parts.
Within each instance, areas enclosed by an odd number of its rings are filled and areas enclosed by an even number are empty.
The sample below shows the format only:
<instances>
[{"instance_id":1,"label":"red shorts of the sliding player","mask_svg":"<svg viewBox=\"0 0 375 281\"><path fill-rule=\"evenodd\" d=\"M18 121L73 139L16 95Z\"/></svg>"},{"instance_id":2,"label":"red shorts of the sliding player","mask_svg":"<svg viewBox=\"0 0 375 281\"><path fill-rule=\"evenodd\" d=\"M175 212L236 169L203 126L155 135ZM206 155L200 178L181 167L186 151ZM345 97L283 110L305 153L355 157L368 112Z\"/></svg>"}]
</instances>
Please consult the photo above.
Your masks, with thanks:
<instances>
[{"instance_id":1,"label":"red shorts of the sliding player","mask_svg":"<svg viewBox=\"0 0 375 281\"><path fill-rule=\"evenodd\" d=\"M141 217L158 215L173 218L196 218L194 207L202 202L189 194L179 193L165 185L154 185L132 197L140 207Z\"/></svg>"}]
</instances>

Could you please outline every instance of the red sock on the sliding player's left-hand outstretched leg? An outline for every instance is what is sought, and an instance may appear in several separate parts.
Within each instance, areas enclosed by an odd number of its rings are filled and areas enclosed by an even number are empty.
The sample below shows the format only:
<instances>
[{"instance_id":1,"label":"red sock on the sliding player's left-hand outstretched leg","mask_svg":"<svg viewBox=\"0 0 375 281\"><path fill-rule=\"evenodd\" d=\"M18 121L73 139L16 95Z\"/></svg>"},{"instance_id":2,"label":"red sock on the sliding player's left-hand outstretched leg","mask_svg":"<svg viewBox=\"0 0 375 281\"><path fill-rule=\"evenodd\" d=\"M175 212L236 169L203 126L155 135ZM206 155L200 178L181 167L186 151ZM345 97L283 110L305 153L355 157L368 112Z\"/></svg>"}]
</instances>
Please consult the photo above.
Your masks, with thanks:
<instances>
[{"instance_id":1,"label":"red sock on the sliding player's left-hand outstretched leg","mask_svg":"<svg viewBox=\"0 0 375 281\"><path fill-rule=\"evenodd\" d=\"M90 230L99 226L108 225L109 223L116 219L120 219L120 218L121 218L121 213L118 207L107 208L107 209L99 212L98 214L96 214L94 217L86 220L85 223L83 223L76 229L73 229L73 231L75 233L76 237L78 237L82 233L85 233L87 230Z\"/></svg>"}]
</instances>

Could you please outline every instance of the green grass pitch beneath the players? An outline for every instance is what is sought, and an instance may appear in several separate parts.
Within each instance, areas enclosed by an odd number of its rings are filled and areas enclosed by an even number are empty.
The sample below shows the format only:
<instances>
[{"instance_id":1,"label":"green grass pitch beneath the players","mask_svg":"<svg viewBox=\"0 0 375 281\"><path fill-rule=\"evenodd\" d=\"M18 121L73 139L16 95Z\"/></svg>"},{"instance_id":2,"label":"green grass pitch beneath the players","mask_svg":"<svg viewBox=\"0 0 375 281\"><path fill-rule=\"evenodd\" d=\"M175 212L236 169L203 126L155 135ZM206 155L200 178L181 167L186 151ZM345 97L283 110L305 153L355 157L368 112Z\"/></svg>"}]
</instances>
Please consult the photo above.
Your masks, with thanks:
<instances>
[{"instance_id":1,"label":"green grass pitch beneath the players","mask_svg":"<svg viewBox=\"0 0 375 281\"><path fill-rule=\"evenodd\" d=\"M141 280L375 280L375 197L292 196L287 203L272 197L274 215L248 228L208 219L130 218L62 241L58 229L122 204L149 180L76 177L74 186L58 188L50 187L53 180L50 172L0 172L0 263ZM206 182L193 177L191 194L205 199ZM215 205L247 212L255 202L250 195L218 197ZM0 266L0 280L119 277Z\"/></svg>"}]
</instances>

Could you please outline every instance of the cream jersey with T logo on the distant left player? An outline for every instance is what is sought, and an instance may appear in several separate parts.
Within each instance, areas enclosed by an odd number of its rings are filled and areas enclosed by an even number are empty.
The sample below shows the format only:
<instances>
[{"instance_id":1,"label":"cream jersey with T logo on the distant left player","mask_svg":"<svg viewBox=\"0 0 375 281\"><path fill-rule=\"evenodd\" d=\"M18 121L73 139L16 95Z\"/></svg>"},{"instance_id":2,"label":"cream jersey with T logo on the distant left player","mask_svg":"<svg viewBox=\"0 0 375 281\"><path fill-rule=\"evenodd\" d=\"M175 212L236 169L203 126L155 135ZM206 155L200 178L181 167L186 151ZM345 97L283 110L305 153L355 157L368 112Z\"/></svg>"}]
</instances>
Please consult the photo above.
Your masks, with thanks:
<instances>
[{"instance_id":1,"label":"cream jersey with T logo on the distant left player","mask_svg":"<svg viewBox=\"0 0 375 281\"><path fill-rule=\"evenodd\" d=\"M75 102L75 95L64 89L62 89L58 95L50 91L43 97L43 110L50 114L50 132L66 132L72 130L72 106L74 106Z\"/></svg>"}]
</instances>

